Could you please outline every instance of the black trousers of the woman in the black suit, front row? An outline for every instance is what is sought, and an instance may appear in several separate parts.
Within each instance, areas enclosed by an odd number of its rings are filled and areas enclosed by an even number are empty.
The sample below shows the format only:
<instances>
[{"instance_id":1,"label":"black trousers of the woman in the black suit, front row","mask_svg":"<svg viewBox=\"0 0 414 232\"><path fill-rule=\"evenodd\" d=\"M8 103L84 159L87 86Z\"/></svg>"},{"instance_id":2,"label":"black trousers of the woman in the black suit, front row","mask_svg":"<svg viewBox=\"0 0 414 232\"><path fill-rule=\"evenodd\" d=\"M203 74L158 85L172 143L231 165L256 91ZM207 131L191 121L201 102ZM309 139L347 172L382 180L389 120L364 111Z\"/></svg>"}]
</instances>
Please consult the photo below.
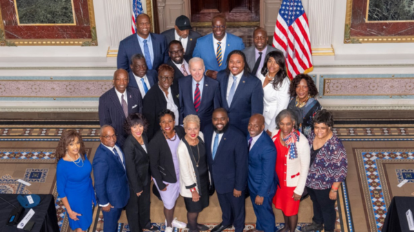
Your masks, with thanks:
<instances>
[{"instance_id":1,"label":"black trousers of the woman in the black suit, front row","mask_svg":"<svg viewBox=\"0 0 414 232\"><path fill-rule=\"evenodd\" d=\"M148 175L149 176L149 175ZM151 227L150 220L150 184L148 180L146 186L138 197L137 193L134 192L130 187L130 199L126 204L126 218L130 226L131 232L141 232L142 229L148 229Z\"/></svg>"}]
</instances>

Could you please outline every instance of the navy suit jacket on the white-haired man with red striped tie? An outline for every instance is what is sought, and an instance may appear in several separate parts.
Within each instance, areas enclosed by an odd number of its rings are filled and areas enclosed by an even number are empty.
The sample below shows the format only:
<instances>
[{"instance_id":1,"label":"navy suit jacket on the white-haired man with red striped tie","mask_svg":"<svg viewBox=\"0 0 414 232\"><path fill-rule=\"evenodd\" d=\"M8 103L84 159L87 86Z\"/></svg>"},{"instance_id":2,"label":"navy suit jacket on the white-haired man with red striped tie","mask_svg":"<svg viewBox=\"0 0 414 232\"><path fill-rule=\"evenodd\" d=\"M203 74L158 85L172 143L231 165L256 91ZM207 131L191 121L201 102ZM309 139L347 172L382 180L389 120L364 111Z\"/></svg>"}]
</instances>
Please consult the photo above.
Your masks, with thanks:
<instances>
[{"instance_id":1,"label":"navy suit jacket on the white-haired man with red striped tie","mask_svg":"<svg viewBox=\"0 0 414 232\"><path fill-rule=\"evenodd\" d=\"M204 87L201 94L201 103L199 111L195 111L193 98L193 76L186 76L179 79L179 106L180 106L180 124L188 114L199 116L201 130L204 126L211 123L213 110L221 107L221 95L219 82L204 76Z\"/></svg>"}]
</instances>

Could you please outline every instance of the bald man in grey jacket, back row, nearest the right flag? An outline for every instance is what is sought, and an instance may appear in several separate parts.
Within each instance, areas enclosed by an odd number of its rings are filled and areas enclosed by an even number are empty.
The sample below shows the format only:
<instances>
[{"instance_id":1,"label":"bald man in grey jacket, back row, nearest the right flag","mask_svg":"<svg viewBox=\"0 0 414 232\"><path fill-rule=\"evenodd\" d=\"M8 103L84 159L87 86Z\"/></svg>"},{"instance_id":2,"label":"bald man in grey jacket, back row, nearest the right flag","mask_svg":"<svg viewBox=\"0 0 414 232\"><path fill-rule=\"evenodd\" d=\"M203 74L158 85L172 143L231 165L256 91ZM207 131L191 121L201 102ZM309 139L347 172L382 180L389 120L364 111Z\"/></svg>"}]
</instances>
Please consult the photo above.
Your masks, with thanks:
<instances>
[{"instance_id":1,"label":"bald man in grey jacket, back row, nearest the right flag","mask_svg":"<svg viewBox=\"0 0 414 232\"><path fill-rule=\"evenodd\" d=\"M257 28L253 32L254 46L243 50L246 54L246 61L253 76L259 76L264 65L264 59L269 52L276 51L276 48L268 45L268 35L264 28Z\"/></svg>"}]
</instances>

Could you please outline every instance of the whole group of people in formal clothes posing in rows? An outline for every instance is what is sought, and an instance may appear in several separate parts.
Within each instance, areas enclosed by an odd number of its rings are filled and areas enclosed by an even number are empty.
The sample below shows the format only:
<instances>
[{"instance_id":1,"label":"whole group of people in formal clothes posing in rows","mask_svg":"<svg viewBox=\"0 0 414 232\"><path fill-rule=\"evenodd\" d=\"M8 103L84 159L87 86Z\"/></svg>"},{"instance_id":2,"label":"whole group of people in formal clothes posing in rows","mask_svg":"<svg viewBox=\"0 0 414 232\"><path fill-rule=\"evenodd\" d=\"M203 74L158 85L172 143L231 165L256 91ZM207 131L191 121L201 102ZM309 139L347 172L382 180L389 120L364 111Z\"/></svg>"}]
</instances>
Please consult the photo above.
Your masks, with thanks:
<instances>
[{"instance_id":1,"label":"whole group of people in formal clothes posing in rows","mask_svg":"<svg viewBox=\"0 0 414 232\"><path fill-rule=\"evenodd\" d=\"M302 231L333 231L346 151L311 76L290 81L283 52L268 45L263 28L244 48L221 16L206 36L185 16L162 34L150 33L146 14L135 22L137 34L119 45L114 87L99 98L92 164L77 131L64 131L57 147L57 191L70 227L86 231L98 204L106 232L117 231L123 209L130 231L159 230L150 221L153 181L168 232L209 230L197 218L214 191L222 221L213 232L243 231L247 196L257 216L252 232L275 231L272 204L284 215L280 231L295 231L306 196L313 222ZM174 217L179 195L187 222Z\"/></svg>"}]
</instances>

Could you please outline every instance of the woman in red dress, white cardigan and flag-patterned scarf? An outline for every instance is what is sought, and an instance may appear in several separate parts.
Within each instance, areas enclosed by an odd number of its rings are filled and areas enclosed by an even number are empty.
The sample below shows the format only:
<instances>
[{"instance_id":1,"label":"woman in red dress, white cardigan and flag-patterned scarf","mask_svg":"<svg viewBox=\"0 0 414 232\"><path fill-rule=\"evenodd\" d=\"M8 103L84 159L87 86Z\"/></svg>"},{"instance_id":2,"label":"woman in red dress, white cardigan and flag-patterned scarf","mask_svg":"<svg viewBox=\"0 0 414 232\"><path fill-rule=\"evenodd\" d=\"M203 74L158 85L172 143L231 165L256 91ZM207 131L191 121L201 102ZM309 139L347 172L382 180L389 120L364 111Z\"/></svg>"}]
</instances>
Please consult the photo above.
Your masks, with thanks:
<instances>
[{"instance_id":1,"label":"woman in red dress, white cardigan and flag-patterned scarf","mask_svg":"<svg viewBox=\"0 0 414 232\"><path fill-rule=\"evenodd\" d=\"M281 209L285 226L280 232L295 231L297 212L311 160L308 140L297 130L295 113L284 109L276 117L277 128L272 139L277 150L276 174L279 186L273 198L276 209ZM279 231L278 231L279 232Z\"/></svg>"}]
</instances>

